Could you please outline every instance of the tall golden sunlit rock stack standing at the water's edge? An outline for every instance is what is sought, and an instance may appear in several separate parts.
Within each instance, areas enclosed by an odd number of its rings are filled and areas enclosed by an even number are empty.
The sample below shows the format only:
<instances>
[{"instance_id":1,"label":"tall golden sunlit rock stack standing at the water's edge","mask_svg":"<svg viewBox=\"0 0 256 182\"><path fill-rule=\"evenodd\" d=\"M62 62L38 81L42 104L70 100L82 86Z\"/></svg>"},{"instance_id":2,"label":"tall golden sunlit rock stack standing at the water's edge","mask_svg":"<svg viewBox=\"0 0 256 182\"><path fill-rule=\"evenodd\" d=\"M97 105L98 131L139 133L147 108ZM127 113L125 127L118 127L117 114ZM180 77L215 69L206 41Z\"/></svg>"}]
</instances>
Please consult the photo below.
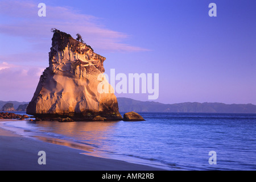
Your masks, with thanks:
<instances>
[{"instance_id":1,"label":"tall golden sunlit rock stack standing at the water's edge","mask_svg":"<svg viewBox=\"0 0 256 182\"><path fill-rule=\"evenodd\" d=\"M105 57L65 32L53 32L49 67L40 77L27 114L74 121L90 121L98 115L122 120L114 93L98 91L99 84L111 88L102 76Z\"/></svg>"}]
</instances>

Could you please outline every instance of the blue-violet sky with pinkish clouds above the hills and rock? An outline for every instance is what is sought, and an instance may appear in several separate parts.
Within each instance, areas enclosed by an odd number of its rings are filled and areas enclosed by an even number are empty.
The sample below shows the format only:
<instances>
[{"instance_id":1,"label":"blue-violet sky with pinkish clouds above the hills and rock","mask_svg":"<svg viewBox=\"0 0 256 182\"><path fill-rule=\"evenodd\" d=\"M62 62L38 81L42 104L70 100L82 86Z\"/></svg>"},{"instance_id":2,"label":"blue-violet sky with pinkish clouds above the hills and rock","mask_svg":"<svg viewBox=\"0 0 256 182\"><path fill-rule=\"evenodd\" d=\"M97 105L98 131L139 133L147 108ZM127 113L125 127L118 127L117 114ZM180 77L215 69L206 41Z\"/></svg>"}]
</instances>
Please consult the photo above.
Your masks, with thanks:
<instances>
[{"instance_id":1,"label":"blue-violet sky with pinkish clouds above the hills and rock","mask_svg":"<svg viewBox=\"0 0 256 182\"><path fill-rule=\"evenodd\" d=\"M46 4L46 17L37 7ZM209 3L217 5L210 17ZM52 27L79 32L105 71L159 73L162 103L256 104L256 2L0 1L0 100L30 101ZM146 101L148 94L116 94Z\"/></svg>"}]
</instances>

